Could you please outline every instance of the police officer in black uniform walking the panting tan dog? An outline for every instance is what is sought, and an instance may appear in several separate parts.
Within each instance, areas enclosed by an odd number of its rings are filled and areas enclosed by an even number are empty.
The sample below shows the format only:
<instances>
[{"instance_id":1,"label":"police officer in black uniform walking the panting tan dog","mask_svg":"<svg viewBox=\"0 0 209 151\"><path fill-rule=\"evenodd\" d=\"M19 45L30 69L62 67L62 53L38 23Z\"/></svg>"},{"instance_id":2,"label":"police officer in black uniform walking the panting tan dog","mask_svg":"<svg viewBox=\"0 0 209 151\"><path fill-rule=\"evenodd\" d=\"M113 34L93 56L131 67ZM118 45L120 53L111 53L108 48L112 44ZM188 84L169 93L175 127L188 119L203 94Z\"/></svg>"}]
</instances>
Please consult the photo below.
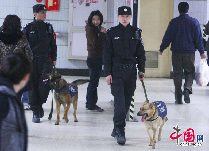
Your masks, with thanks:
<instances>
[{"instance_id":1,"label":"police officer in black uniform walking the panting tan dog","mask_svg":"<svg viewBox=\"0 0 209 151\"><path fill-rule=\"evenodd\" d=\"M114 96L114 129L111 136L117 139L118 144L124 145L126 114L136 89L136 64L139 78L143 80L146 59L141 30L130 25L131 8L119 7L118 19L119 25L107 32L104 71Z\"/></svg>"}]
</instances>

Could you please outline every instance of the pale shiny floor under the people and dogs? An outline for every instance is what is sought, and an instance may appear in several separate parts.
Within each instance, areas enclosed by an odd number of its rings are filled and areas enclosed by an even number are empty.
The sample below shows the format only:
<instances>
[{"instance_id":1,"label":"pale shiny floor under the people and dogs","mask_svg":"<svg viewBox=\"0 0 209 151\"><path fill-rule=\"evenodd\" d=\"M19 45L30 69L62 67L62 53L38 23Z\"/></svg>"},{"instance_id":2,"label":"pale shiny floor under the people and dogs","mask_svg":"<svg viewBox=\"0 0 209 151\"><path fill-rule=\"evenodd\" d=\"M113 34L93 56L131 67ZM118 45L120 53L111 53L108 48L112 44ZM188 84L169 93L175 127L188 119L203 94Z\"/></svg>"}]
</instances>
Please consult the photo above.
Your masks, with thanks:
<instances>
[{"instance_id":1,"label":"pale shiny floor under the people and dogs","mask_svg":"<svg viewBox=\"0 0 209 151\"><path fill-rule=\"evenodd\" d=\"M65 77L73 81L82 77ZM84 77L83 77L84 78ZM163 100L168 107L168 122L163 128L162 141L156 144L156 151L208 151L209 149L209 87L194 85L191 104L174 104L174 87L171 79L146 79L148 97L152 101ZM85 109L87 84L79 86L78 123L73 122L72 110L69 113L69 123L64 121L55 126L55 114L51 121L47 117L50 110L51 95L44 105L45 116L40 124L31 122L32 112L26 111L29 128L29 151L145 151L152 150L148 146L148 135L145 126L139 122L127 122L125 146L117 145L110 136L113 128L113 106L110 88L104 79L100 80L98 88L98 105L105 109L103 113ZM135 92L135 110L145 100L139 81ZM195 135L203 135L201 147L180 147L170 139L173 127L180 127L181 132L193 128ZM183 141L183 136L180 142Z\"/></svg>"}]
</instances>

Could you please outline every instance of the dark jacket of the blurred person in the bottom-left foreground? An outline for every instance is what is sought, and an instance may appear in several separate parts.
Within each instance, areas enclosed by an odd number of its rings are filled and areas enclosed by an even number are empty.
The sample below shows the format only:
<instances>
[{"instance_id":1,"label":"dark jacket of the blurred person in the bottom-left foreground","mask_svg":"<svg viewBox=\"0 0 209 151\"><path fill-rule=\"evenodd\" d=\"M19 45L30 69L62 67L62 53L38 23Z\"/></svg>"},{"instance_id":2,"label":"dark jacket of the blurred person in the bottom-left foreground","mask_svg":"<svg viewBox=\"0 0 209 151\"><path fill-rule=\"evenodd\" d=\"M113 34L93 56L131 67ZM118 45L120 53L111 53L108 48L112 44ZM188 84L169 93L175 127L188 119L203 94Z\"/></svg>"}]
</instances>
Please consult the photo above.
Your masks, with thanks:
<instances>
[{"instance_id":1,"label":"dark jacket of the blurred person in the bottom-left foreground","mask_svg":"<svg viewBox=\"0 0 209 151\"><path fill-rule=\"evenodd\" d=\"M13 84L0 76L0 151L26 151L27 125Z\"/></svg>"}]
</instances>

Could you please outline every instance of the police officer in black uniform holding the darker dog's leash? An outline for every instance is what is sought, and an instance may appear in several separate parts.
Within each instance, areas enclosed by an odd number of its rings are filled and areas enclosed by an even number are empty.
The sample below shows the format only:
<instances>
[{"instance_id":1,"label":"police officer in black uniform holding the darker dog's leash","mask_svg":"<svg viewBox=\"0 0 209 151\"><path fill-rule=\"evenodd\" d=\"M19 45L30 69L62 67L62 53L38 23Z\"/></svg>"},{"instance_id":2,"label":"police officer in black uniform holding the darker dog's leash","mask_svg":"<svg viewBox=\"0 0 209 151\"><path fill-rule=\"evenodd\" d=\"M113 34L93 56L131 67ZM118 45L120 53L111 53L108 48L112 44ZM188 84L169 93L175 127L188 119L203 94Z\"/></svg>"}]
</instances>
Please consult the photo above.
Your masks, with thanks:
<instances>
[{"instance_id":1,"label":"police officer in black uniform holding the darker dog's leash","mask_svg":"<svg viewBox=\"0 0 209 151\"><path fill-rule=\"evenodd\" d=\"M31 78L30 106L34 123L40 123L44 116L42 104L46 102L50 88L44 84L46 73L50 73L56 64L57 46L51 24L44 22L46 7L42 4L33 6L34 21L26 25L24 32L33 51L33 73Z\"/></svg>"}]
</instances>

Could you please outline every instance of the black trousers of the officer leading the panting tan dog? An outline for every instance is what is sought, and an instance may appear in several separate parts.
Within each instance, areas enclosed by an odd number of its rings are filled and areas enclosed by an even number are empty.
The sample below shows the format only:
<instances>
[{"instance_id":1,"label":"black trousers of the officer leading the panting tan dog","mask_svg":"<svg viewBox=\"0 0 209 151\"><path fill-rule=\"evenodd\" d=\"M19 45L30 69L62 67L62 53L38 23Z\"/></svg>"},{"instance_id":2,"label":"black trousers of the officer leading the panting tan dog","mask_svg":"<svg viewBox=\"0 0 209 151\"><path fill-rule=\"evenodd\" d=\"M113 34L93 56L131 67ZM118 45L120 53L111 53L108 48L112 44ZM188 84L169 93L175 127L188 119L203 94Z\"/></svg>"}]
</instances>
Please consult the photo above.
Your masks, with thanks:
<instances>
[{"instance_id":1,"label":"black trousers of the officer leading the panting tan dog","mask_svg":"<svg viewBox=\"0 0 209 151\"><path fill-rule=\"evenodd\" d=\"M129 111L131 99L136 89L136 68L120 70L113 67L113 81L111 93L114 96L114 128L124 129L126 126L126 114Z\"/></svg>"}]
</instances>

